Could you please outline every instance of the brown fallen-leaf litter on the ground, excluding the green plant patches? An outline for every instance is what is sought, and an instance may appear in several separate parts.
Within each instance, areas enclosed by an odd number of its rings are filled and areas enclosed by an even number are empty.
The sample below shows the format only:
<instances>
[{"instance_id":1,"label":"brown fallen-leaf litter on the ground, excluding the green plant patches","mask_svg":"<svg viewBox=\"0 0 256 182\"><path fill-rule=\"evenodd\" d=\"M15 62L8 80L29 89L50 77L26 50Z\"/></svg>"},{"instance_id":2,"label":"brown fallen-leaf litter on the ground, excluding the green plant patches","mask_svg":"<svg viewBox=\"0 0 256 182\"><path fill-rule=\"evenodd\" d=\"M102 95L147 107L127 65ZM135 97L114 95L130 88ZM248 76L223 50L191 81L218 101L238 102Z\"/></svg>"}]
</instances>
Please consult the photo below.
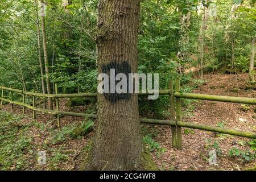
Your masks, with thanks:
<instances>
[{"instance_id":1,"label":"brown fallen-leaf litter on the ground, excluding the green plant patches","mask_svg":"<svg viewBox=\"0 0 256 182\"><path fill-rule=\"evenodd\" d=\"M222 96L241 96L256 97L255 90L246 90L247 75L238 75L237 81L234 75L205 75L207 82L203 88L195 89L194 93L207 93ZM61 110L67 110L64 102ZM204 123L212 126L225 126L232 129L240 129L245 131L256 131L256 119L254 106L250 106L249 110L244 111L240 104L227 104L224 102L200 101L192 102L188 108L183 108L183 121L193 123ZM84 108L77 107L76 111L82 111ZM10 105L3 107L2 111L11 113L21 113L20 107L15 106L11 110ZM30 118L31 111L27 111L29 117L22 119L23 125L34 122ZM54 122L44 114L38 113L37 123L42 123L43 127L37 125L31 126L27 135L32 138L32 152L24 154L23 158L27 159L26 170L72 170L77 169L88 151L90 140L93 133L86 137L78 139L60 140L52 143L52 137L65 131L70 125L82 122L81 118L63 117L61 118L61 129L56 129ZM171 147L171 128L167 126L143 125L144 128L151 130L154 136L153 144L156 148L160 148L158 152L152 152L152 157L162 170L240 170L246 167L255 166L255 159L250 162L242 161L242 158L232 158L229 156L231 148L240 150L250 150L247 142L250 139L241 137L232 137L230 135L210 133L200 130L183 129L183 150L176 150ZM186 134L184 134L186 133ZM152 142L152 141L151 141ZM215 143L215 144L214 144ZM217 150L218 166L208 164L208 153L213 149ZM37 162L37 152L41 150L47 151L47 164L41 166ZM73 157L75 150L79 151L76 158L76 165L73 168ZM251 151L251 150L250 150ZM253 151L251 151L253 152ZM9 169L15 169L11 166Z\"/></svg>"}]
</instances>

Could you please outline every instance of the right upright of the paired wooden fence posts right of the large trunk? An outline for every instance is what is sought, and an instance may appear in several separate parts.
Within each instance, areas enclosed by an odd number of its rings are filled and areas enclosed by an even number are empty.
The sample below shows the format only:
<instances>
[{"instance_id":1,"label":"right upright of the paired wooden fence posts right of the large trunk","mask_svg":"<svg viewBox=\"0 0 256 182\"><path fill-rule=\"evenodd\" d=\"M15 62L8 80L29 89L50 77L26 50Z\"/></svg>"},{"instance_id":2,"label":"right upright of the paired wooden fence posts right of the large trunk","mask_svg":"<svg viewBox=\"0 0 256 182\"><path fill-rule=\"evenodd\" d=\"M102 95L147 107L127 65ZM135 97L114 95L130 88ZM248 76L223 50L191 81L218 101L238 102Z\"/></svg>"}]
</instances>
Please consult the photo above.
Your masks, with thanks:
<instances>
[{"instance_id":1,"label":"right upright of the paired wooden fence posts right of the large trunk","mask_svg":"<svg viewBox=\"0 0 256 182\"><path fill-rule=\"evenodd\" d=\"M175 81L175 90L176 92L180 92L180 79L176 78ZM180 98L176 97L176 125L181 121L181 104ZM182 149L182 134L181 127L177 126L177 148L179 150Z\"/></svg>"}]
</instances>

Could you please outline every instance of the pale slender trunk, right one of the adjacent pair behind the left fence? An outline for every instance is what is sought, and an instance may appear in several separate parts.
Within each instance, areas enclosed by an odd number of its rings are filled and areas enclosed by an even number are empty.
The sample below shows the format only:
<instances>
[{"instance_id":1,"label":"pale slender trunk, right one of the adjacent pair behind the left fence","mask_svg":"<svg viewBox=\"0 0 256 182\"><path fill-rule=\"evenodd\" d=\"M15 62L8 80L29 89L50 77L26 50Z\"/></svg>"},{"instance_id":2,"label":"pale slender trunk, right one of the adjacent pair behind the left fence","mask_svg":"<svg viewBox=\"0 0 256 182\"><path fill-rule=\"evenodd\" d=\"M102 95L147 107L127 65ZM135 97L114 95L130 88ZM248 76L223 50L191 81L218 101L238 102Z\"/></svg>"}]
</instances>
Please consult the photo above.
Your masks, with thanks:
<instances>
[{"instance_id":1,"label":"pale slender trunk, right one of the adjacent pair behind the left fence","mask_svg":"<svg viewBox=\"0 0 256 182\"><path fill-rule=\"evenodd\" d=\"M44 0L40 0L41 3L44 3ZM46 21L44 16L42 16L42 35L43 35L43 49L44 49L44 64L46 67L46 86L47 86L47 93L51 94L51 83L49 81L49 60L48 60L48 53L47 53L47 41L46 41ZM52 105L52 98L48 98L48 105L49 109L53 110Z\"/></svg>"}]
</instances>

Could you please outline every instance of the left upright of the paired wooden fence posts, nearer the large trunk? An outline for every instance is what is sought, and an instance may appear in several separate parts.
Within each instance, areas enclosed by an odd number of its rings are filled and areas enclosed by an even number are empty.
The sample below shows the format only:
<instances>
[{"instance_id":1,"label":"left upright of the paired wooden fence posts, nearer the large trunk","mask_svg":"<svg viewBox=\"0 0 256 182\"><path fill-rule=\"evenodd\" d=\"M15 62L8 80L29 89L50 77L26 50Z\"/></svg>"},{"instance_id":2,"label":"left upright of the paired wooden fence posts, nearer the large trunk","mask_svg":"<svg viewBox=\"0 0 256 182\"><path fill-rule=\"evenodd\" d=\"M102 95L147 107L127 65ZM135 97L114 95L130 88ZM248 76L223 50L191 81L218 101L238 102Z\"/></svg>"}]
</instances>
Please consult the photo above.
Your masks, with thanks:
<instances>
[{"instance_id":1,"label":"left upright of the paired wooden fence posts, nearer the large trunk","mask_svg":"<svg viewBox=\"0 0 256 182\"><path fill-rule=\"evenodd\" d=\"M171 121L175 121L175 103L174 103L174 80L169 80L168 82L169 89L171 90L169 96L170 102L170 114ZM176 126L171 126L172 130L172 147L177 148L177 128Z\"/></svg>"}]
</instances>

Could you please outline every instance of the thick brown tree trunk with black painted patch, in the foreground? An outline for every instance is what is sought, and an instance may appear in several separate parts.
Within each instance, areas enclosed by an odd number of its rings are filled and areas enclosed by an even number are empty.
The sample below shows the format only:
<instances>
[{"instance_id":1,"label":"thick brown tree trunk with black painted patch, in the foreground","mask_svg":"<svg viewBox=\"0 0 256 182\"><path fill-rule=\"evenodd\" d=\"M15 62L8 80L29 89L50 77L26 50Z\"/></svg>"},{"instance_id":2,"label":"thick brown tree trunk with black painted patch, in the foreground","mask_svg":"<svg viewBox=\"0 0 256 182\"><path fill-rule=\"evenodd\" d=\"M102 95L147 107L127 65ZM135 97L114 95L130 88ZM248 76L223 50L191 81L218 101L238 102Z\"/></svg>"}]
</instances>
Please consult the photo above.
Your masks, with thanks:
<instances>
[{"instance_id":1,"label":"thick brown tree trunk with black painted patch, in the foreground","mask_svg":"<svg viewBox=\"0 0 256 182\"><path fill-rule=\"evenodd\" d=\"M137 73L140 0L100 0L98 4L98 72ZM81 170L136 170L143 144L138 94L98 94L92 148ZM143 166L143 167L142 167Z\"/></svg>"}]
</instances>

